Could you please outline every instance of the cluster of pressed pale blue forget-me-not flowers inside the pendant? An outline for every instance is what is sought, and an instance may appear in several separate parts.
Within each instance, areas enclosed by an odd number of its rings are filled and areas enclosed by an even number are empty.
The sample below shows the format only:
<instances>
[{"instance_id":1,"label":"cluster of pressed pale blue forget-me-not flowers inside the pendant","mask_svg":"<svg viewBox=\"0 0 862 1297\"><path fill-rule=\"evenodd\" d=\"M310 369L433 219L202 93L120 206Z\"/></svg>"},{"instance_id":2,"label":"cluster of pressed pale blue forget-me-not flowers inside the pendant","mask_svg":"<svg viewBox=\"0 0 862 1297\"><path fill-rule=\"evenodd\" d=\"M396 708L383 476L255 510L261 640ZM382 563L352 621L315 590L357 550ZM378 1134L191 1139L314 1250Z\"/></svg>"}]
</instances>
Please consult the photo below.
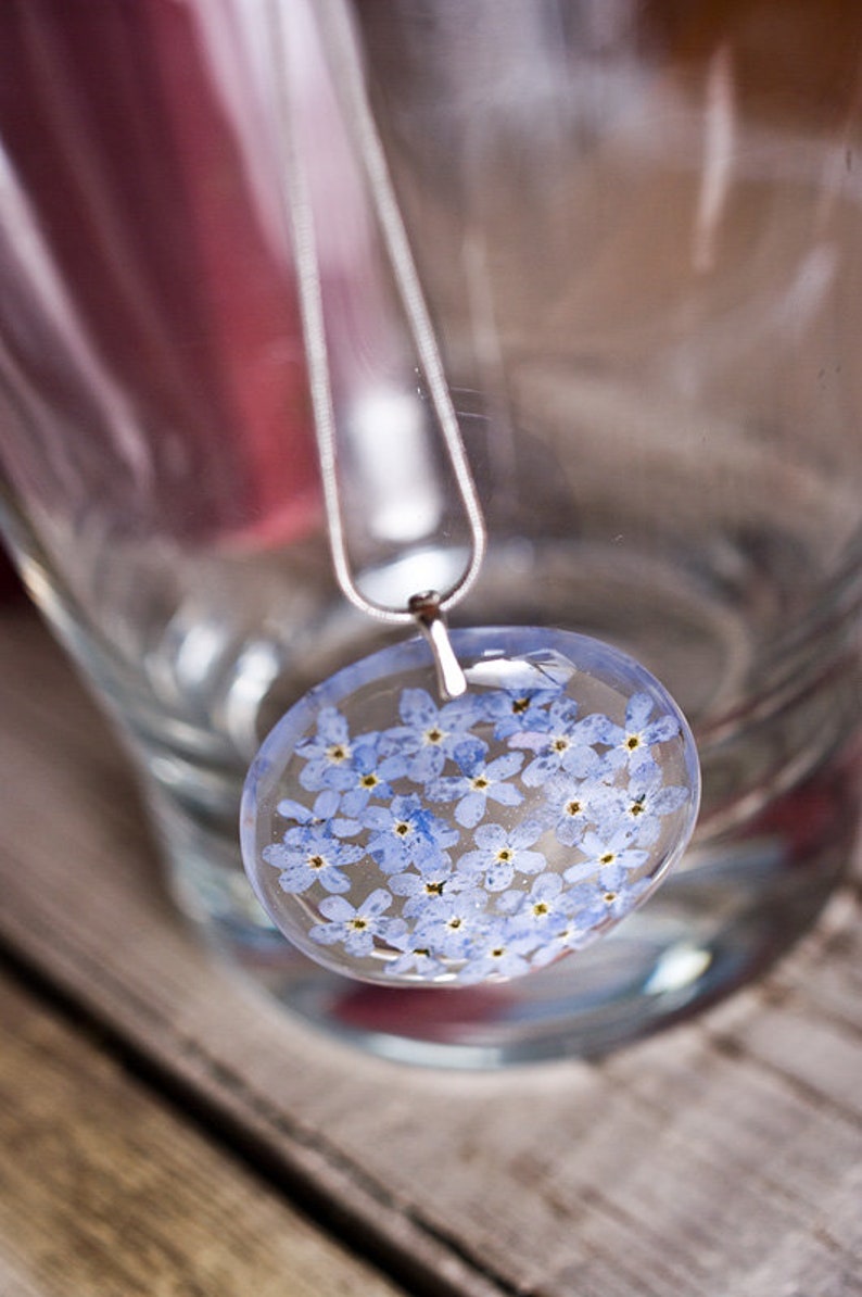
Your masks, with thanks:
<instances>
[{"instance_id":1,"label":"cluster of pressed pale blue forget-me-not flowers inside the pendant","mask_svg":"<svg viewBox=\"0 0 862 1297\"><path fill-rule=\"evenodd\" d=\"M323 708L263 859L346 966L458 983L543 966L638 903L691 798L655 755L679 724L653 709L635 694L614 724L563 687L439 707L404 689L398 725L354 735Z\"/></svg>"}]
</instances>

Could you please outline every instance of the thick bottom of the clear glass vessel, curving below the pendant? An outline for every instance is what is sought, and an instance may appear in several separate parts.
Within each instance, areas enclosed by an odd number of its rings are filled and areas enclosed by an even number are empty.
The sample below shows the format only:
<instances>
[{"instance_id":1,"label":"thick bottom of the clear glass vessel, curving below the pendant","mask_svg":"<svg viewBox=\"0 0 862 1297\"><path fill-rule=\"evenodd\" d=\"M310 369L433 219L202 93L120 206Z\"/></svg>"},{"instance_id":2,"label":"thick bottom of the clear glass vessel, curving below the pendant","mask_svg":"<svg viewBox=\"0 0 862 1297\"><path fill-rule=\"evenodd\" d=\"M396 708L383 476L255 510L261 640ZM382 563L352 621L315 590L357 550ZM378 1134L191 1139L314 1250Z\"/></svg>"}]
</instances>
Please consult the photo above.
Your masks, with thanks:
<instances>
[{"instance_id":1,"label":"thick bottom of the clear glass vessel, curving below the pendant","mask_svg":"<svg viewBox=\"0 0 862 1297\"><path fill-rule=\"evenodd\" d=\"M290 1013L379 1057L452 1069L595 1057L728 995L810 927L850 859L854 773L846 757L831 763L744 831L690 852L596 947L509 983L389 988L340 977L292 949L254 903L242 921L235 872L214 918L211 866L205 933ZM188 855L174 887L187 912L189 896L200 907Z\"/></svg>"}]
</instances>

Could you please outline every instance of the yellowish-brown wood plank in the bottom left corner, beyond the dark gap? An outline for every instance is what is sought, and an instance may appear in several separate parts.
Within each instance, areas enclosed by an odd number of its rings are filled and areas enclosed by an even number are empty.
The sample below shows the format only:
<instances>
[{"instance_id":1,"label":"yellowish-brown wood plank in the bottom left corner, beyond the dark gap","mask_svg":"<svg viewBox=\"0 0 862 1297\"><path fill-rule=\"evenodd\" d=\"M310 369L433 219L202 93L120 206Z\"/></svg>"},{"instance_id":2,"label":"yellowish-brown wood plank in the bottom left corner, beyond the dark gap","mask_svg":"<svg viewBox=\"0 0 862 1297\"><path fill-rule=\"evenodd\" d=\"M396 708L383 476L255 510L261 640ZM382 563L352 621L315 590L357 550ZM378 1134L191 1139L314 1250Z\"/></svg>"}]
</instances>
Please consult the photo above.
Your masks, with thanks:
<instances>
[{"instance_id":1,"label":"yellowish-brown wood plank in the bottom left corner, beyond the dark gap","mask_svg":"<svg viewBox=\"0 0 862 1297\"><path fill-rule=\"evenodd\" d=\"M0 978L4 1297L397 1297Z\"/></svg>"}]
</instances>

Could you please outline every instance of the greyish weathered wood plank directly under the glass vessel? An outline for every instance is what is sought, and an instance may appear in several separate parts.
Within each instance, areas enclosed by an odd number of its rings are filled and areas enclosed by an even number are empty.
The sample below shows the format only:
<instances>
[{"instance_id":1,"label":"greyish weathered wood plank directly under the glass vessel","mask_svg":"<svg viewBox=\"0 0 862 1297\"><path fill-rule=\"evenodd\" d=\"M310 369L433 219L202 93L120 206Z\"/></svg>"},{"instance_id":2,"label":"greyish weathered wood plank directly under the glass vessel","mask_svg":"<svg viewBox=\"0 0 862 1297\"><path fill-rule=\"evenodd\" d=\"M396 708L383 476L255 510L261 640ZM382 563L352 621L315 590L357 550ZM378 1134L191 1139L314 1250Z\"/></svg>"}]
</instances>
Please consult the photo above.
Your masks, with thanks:
<instances>
[{"instance_id":1,"label":"greyish weathered wood plank directly under the glass vessel","mask_svg":"<svg viewBox=\"0 0 862 1297\"><path fill-rule=\"evenodd\" d=\"M416 1291L862 1293L854 885L760 986L601 1064L398 1067L194 943L117 746L30 613L0 626L0 715L6 948Z\"/></svg>"}]
</instances>

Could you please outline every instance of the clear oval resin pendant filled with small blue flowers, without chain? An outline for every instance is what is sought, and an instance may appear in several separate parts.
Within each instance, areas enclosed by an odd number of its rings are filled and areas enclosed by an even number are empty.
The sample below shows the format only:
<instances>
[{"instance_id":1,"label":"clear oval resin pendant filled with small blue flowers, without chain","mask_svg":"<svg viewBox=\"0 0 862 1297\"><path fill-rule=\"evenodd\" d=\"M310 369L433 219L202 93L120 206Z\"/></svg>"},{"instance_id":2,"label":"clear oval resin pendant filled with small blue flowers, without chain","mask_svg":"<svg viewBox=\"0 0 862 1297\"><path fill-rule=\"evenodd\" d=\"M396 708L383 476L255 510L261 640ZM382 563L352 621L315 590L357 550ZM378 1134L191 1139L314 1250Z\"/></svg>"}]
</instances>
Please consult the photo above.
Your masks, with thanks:
<instances>
[{"instance_id":1,"label":"clear oval resin pendant filled with small blue flowers, without chain","mask_svg":"<svg viewBox=\"0 0 862 1297\"><path fill-rule=\"evenodd\" d=\"M246 781L246 872L318 962L385 984L504 981L578 951L655 890L693 831L695 743L608 645L452 630L441 703L424 639L302 698Z\"/></svg>"}]
</instances>

